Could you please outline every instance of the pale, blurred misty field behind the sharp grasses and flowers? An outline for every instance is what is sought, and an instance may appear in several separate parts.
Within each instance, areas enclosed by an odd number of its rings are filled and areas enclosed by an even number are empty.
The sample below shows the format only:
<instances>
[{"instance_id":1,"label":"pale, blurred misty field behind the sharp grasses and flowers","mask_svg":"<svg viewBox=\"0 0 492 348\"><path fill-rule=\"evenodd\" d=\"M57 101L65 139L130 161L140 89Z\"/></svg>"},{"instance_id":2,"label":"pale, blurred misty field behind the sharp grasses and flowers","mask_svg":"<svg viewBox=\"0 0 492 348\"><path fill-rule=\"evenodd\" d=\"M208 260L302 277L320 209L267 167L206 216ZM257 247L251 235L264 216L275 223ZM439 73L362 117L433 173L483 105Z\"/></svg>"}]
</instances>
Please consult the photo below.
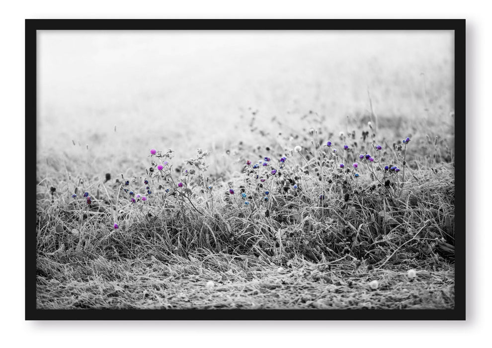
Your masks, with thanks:
<instances>
[{"instance_id":1,"label":"pale, blurred misty field behind the sharp grasses and flowers","mask_svg":"<svg viewBox=\"0 0 492 348\"><path fill-rule=\"evenodd\" d=\"M147 166L151 148L175 150L175 162L202 148L210 172L223 172L240 141L360 129L368 89L386 139L449 137L453 41L445 31L39 31L38 165L117 175Z\"/></svg>"}]
</instances>

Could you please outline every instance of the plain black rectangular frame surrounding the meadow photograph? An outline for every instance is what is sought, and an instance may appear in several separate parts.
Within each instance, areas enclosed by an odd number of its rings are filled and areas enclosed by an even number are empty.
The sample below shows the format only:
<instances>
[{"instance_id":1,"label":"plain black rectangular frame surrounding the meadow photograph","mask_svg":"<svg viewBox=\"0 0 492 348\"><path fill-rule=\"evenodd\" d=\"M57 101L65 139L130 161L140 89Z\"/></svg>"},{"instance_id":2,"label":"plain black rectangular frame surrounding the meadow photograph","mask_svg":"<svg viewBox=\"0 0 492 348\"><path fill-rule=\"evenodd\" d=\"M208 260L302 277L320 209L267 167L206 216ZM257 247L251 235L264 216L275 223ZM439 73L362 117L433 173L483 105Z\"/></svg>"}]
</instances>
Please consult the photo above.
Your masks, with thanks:
<instances>
[{"instance_id":1,"label":"plain black rectangular frame surrounding the meadow photograph","mask_svg":"<svg viewBox=\"0 0 492 348\"><path fill-rule=\"evenodd\" d=\"M36 309L36 183L26 180L26 320L465 320L465 19L26 19L26 177L36 156L37 30L453 30L455 78L455 306L449 310Z\"/></svg>"}]
</instances>

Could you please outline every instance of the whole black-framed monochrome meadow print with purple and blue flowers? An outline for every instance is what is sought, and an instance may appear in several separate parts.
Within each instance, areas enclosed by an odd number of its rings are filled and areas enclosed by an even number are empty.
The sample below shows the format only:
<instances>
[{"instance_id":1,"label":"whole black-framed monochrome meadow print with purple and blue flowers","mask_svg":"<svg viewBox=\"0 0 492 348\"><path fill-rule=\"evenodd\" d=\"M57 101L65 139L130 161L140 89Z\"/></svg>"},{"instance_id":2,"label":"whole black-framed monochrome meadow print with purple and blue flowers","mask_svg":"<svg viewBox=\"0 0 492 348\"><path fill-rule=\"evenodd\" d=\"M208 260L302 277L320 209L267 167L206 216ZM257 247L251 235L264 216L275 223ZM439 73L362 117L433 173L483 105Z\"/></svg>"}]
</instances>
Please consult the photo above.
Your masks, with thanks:
<instances>
[{"instance_id":1,"label":"whole black-framed monochrome meadow print with purple and blue flowers","mask_svg":"<svg viewBox=\"0 0 492 348\"><path fill-rule=\"evenodd\" d=\"M464 38L26 20L26 319L464 320Z\"/></svg>"}]
</instances>

